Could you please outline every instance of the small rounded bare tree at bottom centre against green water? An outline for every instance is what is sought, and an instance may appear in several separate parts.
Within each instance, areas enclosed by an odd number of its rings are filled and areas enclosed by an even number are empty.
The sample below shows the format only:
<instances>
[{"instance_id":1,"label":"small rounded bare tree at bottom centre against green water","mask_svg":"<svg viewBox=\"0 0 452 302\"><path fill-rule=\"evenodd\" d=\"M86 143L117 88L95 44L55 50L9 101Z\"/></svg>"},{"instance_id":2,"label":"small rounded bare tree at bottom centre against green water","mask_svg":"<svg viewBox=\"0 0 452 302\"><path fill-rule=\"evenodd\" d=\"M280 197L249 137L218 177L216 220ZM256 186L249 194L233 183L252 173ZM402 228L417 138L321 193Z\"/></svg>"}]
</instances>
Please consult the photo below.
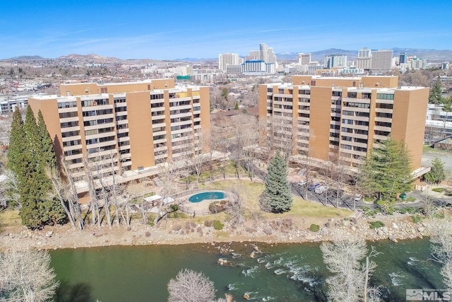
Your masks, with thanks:
<instances>
[{"instance_id":1,"label":"small rounded bare tree at bottom centre against green water","mask_svg":"<svg viewBox=\"0 0 452 302\"><path fill-rule=\"evenodd\" d=\"M210 302L215 297L213 281L203 273L184 269L168 282L168 302Z\"/></svg>"}]
</instances>

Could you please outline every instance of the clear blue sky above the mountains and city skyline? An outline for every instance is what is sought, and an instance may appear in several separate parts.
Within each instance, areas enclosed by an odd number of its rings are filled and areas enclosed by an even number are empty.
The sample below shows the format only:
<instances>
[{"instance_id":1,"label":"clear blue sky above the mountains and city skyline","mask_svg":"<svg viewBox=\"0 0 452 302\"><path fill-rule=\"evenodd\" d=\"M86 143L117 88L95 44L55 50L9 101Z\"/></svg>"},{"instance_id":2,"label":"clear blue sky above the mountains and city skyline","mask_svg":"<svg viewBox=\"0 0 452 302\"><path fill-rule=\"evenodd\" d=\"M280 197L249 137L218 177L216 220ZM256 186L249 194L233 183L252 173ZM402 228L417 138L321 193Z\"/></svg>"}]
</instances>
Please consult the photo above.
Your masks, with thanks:
<instances>
[{"instance_id":1,"label":"clear blue sky above the mountains and city skyline","mask_svg":"<svg viewBox=\"0 0 452 302\"><path fill-rule=\"evenodd\" d=\"M0 59L241 56L328 48L452 50L452 0L1 1Z\"/></svg>"}]
</instances>

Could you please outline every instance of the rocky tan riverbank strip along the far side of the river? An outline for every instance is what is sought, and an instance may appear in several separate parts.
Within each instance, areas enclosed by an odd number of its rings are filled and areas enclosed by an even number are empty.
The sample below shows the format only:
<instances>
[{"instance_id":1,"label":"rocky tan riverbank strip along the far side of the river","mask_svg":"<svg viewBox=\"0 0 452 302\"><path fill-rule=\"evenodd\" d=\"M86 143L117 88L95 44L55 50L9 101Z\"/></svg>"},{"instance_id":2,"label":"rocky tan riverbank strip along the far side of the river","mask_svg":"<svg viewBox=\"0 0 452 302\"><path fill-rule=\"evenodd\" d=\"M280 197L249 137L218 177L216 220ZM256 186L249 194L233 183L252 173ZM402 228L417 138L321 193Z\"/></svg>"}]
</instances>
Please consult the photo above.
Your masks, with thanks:
<instances>
[{"instance_id":1,"label":"rocky tan riverbank strip along the far side of the river","mask_svg":"<svg viewBox=\"0 0 452 302\"><path fill-rule=\"evenodd\" d=\"M369 221L381 221L384 226L370 228ZM309 230L312 223L319 231ZM304 243L331 240L335 231L353 233L366 240L403 239L429 236L428 222L414 223L408 215L375 216L374 218L319 219L285 216L284 219L248 221L242 226L225 227L217 231L207 221L195 223L188 219L169 219L167 226L150 227L135 224L123 226L87 226L78 231L71 226L50 226L41 231L30 231L24 226L1 229L0 248L93 248L109 245L154 245L215 242Z\"/></svg>"}]
</instances>

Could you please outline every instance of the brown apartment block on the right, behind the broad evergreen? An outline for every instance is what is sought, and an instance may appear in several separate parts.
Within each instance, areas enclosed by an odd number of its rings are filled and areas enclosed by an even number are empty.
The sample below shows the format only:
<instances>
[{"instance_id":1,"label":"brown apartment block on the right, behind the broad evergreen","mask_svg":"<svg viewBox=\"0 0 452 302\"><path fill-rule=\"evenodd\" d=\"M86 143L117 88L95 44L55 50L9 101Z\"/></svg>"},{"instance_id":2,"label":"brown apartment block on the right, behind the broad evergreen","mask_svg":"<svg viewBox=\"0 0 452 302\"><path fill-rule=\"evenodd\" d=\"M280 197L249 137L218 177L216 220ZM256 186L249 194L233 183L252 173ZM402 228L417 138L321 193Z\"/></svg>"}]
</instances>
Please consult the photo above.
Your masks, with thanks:
<instances>
[{"instance_id":1,"label":"brown apartment block on the right, behind the broad evergreen","mask_svg":"<svg viewBox=\"0 0 452 302\"><path fill-rule=\"evenodd\" d=\"M397 76L292 76L292 83L259 86L259 117L289 124L279 131L292 134L286 137L293 138L293 155L339 155L352 166L362 163L374 141L404 141L417 174L428 97L429 88L398 87ZM275 134L278 144L287 142Z\"/></svg>"}]
</instances>

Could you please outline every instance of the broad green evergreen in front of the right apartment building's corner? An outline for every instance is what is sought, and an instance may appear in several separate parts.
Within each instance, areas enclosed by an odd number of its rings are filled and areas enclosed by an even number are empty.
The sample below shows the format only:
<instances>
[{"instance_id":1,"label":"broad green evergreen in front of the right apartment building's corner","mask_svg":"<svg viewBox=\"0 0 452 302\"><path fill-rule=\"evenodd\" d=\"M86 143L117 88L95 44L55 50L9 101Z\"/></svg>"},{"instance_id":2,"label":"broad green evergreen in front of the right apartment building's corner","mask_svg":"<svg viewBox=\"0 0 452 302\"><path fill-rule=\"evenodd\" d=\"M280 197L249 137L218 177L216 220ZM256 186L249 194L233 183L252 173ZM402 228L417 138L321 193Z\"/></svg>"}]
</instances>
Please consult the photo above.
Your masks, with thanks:
<instances>
[{"instance_id":1,"label":"broad green evergreen in front of the right apartment building's corner","mask_svg":"<svg viewBox=\"0 0 452 302\"><path fill-rule=\"evenodd\" d=\"M360 175L362 188L380 199L393 199L411 190L411 158L405 144L392 139L371 150Z\"/></svg>"}]
</instances>

